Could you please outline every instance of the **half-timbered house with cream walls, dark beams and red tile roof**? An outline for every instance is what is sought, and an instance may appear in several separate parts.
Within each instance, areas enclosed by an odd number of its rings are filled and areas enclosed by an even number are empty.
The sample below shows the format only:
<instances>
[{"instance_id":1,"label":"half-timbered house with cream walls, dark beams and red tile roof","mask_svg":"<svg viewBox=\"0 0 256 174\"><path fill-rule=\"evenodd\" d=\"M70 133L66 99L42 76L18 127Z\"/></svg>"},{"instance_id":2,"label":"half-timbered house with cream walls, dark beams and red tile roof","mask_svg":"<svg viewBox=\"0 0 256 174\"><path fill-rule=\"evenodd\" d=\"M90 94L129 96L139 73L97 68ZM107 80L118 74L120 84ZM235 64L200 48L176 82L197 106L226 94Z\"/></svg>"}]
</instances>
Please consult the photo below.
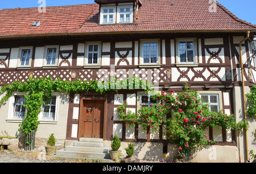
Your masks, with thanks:
<instances>
[{"instance_id":1,"label":"half-timbered house with cream walls, dark beams and red tile roof","mask_svg":"<svg viewBox=\"0 0 256 174\"><path fill-rule=\"evenodd\" d=\"M150 77L159 91L179 92L184 83L200 92L212 111L224 109L241 120L241 72L239 44L256 26L238 19L219 3L208 0L96 0L94 4L0 11L0 86L15 80L49 77L62 80L102 80L128 77L129 70L139 77ZM251 52L248 40L242 43L243 63ZM245 89L255 83L251 62L245 69ZM114 65L114 66L112 66ZM247 67L247 66L246 66ZM24 94L14 93L0 108L0 131L18 135L25 108ZM38 145L54 133L58 145L81 137L103 138L110 143L113 134L122 138L122 147L135 140L140 159L171 160L174 145L163 131L149 134L141 126L127 128L116 115L116 108L128 103L136 112L150 104L142 90L120 90L108 94L66 94L54 92L42 106L41 124L36 132ZM92 113L84 114L91 108ZM85 121L88 120L88 121ZM255 120L249 118L249 150L256 151L250 135ZM89 129L90 128L90 129ZM239 162L236 131L209 129L217 145L197 152L198 162ZM253 143L254 141L254 143ZM242 162L246 161L243 137ZM125 154L125 152L123 152Z\"/></svg>"}]
</instances>

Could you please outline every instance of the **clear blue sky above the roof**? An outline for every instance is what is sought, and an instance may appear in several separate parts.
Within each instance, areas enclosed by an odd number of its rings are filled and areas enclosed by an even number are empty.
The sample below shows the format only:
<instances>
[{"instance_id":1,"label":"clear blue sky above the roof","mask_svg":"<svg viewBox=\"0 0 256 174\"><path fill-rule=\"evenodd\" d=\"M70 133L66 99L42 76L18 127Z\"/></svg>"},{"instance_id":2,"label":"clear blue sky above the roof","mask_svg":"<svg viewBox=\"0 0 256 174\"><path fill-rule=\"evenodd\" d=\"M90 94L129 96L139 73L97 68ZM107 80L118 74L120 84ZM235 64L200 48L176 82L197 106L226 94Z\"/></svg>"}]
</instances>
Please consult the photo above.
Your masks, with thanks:
<instances>
[{"instance_id":1,"label":"clear blue sky above the roof","mask_svg":"<svg viewBox=\"0 0 256 174\"><path fill-rule=\"evenodd\" d=\"M45 0L46 6L79 5L83 3L94 3L94 0ZM208 1L208 0L205 0ZM255 0L217 0L238 18L256 25ZM15 7L38 7L39 0L1 0L0 10ZM196 0L195 0L196 2Z\"/></svg>"}]
</instances>

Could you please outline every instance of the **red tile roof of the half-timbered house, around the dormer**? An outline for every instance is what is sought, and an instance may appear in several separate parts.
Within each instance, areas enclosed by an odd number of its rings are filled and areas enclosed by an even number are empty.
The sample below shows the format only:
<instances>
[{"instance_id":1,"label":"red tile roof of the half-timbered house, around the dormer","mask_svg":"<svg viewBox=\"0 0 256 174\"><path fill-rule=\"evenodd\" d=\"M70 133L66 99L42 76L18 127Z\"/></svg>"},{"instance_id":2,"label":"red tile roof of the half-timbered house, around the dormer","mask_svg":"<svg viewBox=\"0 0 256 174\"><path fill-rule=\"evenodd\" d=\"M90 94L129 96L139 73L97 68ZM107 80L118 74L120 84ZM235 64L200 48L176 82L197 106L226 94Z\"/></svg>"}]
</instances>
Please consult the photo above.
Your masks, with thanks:
<instances>
[{"instance_id":1,"label":"red tile roof of the half-timbered house, around the dormer","mask_svg":"<svg viewBox=\"0 0 256 174\"><path fill-rule=\"evenodd\" d=\"M133 24L99 25L99 5L96 3L46 7L43 13L39 13L38 8L3 9L0 11L0 37L106 32L256 31L255 25L238 19L220 3L217 3L217 12L209 12L208 0L141 2ZM41 22L40 26L31 27L36 21Z\"/></svg>"}]
</instances>

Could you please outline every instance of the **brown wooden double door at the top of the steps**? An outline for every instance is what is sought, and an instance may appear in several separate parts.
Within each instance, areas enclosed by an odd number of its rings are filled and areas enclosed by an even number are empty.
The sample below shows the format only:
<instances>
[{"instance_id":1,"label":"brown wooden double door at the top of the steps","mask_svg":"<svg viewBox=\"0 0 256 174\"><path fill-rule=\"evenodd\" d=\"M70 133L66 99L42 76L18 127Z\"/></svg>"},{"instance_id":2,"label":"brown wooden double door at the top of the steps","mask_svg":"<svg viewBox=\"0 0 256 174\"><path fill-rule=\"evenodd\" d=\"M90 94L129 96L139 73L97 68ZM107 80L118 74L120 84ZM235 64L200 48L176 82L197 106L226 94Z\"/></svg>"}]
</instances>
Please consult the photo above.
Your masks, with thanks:
<instances>
[{"instance_id":1,"label":"brown wooden double door at the top of the steps","mask_svg":"<svg viewBox=\"0 0 256 174\"><path fill-rule=\"evenodd\" d=\"M82 100L79 137L103 138L104 106L104 100Z\"/></svg>"}]
</instances>

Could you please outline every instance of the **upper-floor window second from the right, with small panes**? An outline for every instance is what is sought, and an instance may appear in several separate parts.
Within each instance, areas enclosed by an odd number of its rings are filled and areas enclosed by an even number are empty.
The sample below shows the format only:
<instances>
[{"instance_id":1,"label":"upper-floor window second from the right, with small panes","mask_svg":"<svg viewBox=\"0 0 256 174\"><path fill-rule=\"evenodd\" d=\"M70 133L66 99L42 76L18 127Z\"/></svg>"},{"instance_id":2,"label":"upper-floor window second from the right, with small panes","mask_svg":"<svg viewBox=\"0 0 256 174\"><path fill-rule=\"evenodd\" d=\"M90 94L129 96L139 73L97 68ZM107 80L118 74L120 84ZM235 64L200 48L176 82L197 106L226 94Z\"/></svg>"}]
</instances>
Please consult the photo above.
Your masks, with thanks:
<instances>
[{"instance_id":1,"label":"upper-floor window second from the right, with small panes","mask_svg":"<svg viewBox=\"0 0 256 174\"><path fill-rule=\"evenodd\" d=\"M144 41L142 43L142 63L158 64L158 42Z\"/></svg>"}]
</instances>

